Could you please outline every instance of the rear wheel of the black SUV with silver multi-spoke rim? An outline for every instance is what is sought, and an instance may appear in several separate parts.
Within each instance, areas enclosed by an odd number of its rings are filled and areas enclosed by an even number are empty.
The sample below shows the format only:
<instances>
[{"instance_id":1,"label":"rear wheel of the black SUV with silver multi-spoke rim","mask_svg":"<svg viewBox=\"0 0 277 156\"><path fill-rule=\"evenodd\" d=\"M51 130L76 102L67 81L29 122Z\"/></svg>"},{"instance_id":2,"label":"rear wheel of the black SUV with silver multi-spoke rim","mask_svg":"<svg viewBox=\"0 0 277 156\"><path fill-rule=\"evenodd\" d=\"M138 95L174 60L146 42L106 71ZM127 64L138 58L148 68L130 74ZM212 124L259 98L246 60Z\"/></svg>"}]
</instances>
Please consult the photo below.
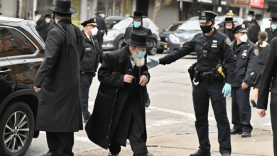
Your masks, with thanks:
<instances>
[{"instance_id":1,"label":"rear wheel of the black SUV with silver multi-spoke rim","mask_svg":"<svg viewBox=\"0 0 277 156\"><path fill-rule=\"evenodd\" d=\"M33 140L35 120L24 102L13 103L0 119L1 155L25 155Z\"/></svg>"}]
</instances>

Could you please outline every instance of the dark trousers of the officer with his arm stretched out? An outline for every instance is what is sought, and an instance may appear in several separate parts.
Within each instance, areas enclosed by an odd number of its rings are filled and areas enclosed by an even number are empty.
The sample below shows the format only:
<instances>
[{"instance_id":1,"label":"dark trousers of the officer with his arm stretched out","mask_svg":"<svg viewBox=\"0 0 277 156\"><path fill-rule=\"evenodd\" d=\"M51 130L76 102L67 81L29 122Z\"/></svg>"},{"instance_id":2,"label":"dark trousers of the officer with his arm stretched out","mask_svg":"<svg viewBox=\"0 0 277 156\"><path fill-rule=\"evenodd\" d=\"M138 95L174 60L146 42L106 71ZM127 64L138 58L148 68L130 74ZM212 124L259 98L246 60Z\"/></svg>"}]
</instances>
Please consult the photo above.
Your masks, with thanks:
<instances>
[{"instance_id":1,"label":"dark trousers of the officer with his arm stretched out","mask_svg":"<svg viewBox=\"0 0 277 156\"><path fill-rule=\"evenodd\" d=\"M230 126L227 118L226 99L222 94L225 82L219 81L214 84L207 84L202 79L197 87L193 87L192 99L195 108L195 128L199 140L199 148L210 151L208 111L209 102L212 101L214 117L217 121L219 152L231 153Z\"/></svg>"}]
</instances>

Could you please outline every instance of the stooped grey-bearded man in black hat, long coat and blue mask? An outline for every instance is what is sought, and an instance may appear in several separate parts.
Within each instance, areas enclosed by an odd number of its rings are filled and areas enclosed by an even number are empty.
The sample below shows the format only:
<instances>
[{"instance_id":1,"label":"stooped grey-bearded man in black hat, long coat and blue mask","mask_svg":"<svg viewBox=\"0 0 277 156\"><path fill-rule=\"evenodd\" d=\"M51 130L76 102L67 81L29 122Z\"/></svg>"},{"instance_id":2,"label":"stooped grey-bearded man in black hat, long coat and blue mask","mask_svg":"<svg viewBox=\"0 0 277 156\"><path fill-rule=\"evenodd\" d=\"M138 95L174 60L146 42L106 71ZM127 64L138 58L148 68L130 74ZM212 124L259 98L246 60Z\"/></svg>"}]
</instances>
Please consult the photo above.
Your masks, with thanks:
<instances>
[{"instance_id":1,"label":"stooped grey-bearded man in black hat, long coat and blue mask","mask_svg":"<svg viewBox=\"0 0 277 156\"><path fill-rule=\"evenodd\" d=\"M124 48L104 55L98 70L100 86L92 116L85 130L93 143L117 156L129 139L134 156L153 156L146 147L144 87L150 74L146 67L146 48L152 44L147 34L134 30L124 39Z\"/></svg>"}]
</instances>

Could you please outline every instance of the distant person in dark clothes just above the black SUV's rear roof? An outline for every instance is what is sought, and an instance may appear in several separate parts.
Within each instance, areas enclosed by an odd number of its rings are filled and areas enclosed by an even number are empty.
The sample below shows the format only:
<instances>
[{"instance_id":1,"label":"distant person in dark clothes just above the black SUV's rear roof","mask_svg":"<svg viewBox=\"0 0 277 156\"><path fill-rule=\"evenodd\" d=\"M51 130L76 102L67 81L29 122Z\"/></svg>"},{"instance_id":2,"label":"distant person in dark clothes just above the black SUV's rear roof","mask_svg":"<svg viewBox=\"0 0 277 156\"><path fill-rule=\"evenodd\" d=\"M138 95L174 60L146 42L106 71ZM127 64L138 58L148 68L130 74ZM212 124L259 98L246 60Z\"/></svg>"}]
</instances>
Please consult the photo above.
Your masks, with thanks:
<instances>
[{"instance_id":1,"label":"distant person in dark clothes just above the black SUV's rear roof","mask_svg":"<svg viewBox=\"0 0 277 156\"><path fill-rule=\"evenodd\" d=\"M35 15L36 15L36 30L38 31L38 34L40 35L41 38L43 38L45 42L47 38L47 33L48 33L46 21L41 16L39 11L35 11Z\"/></svg>"}]
</instances>

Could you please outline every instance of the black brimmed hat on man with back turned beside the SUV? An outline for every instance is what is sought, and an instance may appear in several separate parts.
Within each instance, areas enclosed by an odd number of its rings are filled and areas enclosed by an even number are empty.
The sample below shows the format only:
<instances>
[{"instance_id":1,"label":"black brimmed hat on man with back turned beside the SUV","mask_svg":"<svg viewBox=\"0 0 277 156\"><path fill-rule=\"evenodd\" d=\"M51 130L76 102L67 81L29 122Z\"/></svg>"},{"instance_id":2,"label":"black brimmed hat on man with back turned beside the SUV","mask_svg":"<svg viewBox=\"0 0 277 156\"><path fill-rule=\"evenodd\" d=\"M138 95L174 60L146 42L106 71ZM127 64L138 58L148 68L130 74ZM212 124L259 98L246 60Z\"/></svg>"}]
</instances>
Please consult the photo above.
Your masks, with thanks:
<instances>
[{"instance_id":1,"label":"black brimmed hat on man with back turned beside the SUV","mask_svg":"<svg viewBox=\"0 0 277 156\"><path fill-rule=\"evenodd\" d=\"M57 0L56 5L50 6L49 9L57 13L77 13L77 9L71 7L71 0Z\"/></svg>"}]
</instances>

